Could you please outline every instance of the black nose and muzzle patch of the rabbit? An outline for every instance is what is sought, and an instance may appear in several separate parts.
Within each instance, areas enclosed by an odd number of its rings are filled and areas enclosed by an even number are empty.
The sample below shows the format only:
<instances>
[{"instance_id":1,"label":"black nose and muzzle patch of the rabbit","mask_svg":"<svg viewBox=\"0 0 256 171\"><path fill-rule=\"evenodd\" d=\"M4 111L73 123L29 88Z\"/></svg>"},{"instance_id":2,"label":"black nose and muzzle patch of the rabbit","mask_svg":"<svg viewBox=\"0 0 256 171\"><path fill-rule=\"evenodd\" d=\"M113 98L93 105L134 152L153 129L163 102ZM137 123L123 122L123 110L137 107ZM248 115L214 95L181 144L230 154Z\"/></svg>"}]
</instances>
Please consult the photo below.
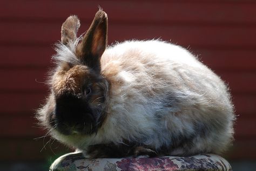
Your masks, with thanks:
<instances>
[{"instance_id":1,"label":"black nose and muzzle patch of the rabbit","mask_svg":"<svg viewBox=\"0 0 256 171\"><path fill-rule=\"evenodd\" d=\"M58 97L54 115L56 129L62 134L92 134L96 131L95 111L83 97L66 94Z\"/></svg>"}]
</instances>

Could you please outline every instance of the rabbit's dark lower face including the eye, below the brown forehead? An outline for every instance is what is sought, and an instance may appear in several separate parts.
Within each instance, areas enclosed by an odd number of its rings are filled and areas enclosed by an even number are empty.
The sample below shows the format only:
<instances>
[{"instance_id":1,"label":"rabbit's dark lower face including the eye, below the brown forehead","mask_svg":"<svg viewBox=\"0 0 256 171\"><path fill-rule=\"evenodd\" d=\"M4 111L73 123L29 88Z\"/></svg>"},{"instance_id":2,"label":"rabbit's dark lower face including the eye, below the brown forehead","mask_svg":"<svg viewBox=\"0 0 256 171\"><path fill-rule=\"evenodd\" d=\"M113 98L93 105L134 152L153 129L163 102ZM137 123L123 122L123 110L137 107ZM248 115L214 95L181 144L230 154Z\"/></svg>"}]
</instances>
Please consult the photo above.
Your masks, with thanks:
<instances>
[{"instance_id":1,"label":"rabbit's dark lower face including the eye, below the brown forehead","mask_svg":"<svg viewBox=\"0 0 256 171\"><path fill-rule=\"evenodd\" d=\"M55 97L53 124L65 135L93 134L105 119L107 82L84 86L80 93L66 92Z\"/></svg>"}]
</instances>

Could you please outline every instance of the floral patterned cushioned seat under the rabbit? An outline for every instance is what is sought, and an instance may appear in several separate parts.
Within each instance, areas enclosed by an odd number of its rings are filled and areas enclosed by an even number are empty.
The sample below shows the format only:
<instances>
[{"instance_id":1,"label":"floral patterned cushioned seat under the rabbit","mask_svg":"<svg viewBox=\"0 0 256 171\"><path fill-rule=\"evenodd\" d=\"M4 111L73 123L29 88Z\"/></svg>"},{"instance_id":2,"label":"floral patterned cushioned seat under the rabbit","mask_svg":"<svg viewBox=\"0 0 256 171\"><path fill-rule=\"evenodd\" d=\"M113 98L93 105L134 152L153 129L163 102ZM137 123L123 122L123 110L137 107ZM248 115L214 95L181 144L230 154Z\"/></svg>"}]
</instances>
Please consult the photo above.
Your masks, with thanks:
<instances>
[{"instance_id":1,"label":"floral patterned cushioned seat under the rabbit","mask_svg":"<svg viewBox=\"0 0 256 171\"><path fill-rule=\"evenodd\" d=\"M50 171L164 171L164 170L231 170L230 164L218 155L201 154L186 157L85 159L82 153L68 153L52 163Z\"/></svg>"}]
</instances>

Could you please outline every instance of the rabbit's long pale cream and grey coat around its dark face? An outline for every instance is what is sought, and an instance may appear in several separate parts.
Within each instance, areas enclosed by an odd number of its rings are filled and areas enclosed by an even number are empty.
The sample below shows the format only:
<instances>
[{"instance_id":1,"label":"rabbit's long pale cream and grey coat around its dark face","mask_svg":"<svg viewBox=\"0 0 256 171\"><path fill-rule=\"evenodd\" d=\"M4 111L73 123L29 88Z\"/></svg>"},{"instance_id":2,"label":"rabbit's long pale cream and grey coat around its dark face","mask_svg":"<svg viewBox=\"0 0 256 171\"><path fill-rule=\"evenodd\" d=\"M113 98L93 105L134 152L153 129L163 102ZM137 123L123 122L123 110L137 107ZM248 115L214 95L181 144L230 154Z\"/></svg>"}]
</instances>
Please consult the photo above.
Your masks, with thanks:
<instances>
[{"instance_id":1,"label":"rabbit's long pale cream and grey coat around its dark face","mask_svg":"<svg viewBox=\"0 0 256 171\"><path fill-rule=\"evenodd\" d=\"M56 58L78 64L75 47L60 44ZM100 66L110 85L102 125L84 135L51 129L57 140L89 157L95 145L182 156L219 154L231 144L235 117L227 87L183 47L160 40L117 43L105 50ZM49 103L39 111L48 127Z\"/></svg>"}]
</instances>

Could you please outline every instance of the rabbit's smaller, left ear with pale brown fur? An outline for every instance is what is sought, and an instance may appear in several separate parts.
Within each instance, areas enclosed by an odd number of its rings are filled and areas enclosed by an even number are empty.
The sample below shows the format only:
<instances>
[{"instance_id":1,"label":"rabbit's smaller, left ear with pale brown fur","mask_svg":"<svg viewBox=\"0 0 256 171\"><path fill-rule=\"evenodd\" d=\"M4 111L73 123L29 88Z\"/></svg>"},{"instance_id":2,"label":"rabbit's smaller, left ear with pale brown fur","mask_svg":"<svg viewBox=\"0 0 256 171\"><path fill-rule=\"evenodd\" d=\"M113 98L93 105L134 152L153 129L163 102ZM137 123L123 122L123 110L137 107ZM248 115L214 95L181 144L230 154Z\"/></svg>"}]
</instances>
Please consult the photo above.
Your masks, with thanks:
<instances>
[{"instance_id":1,"label":"rabbit's smaller, left ear with pale brown fur","mask_svg":"<svg viewBox=\"0 0 256 171\"><path fill-rule=\"evenodd\" d=\"M70 16L62 24L62 43L68 45L69 42L75 42L77 39L77 30L80 22L77 16Z\"/></svg>"}]
</instances>

